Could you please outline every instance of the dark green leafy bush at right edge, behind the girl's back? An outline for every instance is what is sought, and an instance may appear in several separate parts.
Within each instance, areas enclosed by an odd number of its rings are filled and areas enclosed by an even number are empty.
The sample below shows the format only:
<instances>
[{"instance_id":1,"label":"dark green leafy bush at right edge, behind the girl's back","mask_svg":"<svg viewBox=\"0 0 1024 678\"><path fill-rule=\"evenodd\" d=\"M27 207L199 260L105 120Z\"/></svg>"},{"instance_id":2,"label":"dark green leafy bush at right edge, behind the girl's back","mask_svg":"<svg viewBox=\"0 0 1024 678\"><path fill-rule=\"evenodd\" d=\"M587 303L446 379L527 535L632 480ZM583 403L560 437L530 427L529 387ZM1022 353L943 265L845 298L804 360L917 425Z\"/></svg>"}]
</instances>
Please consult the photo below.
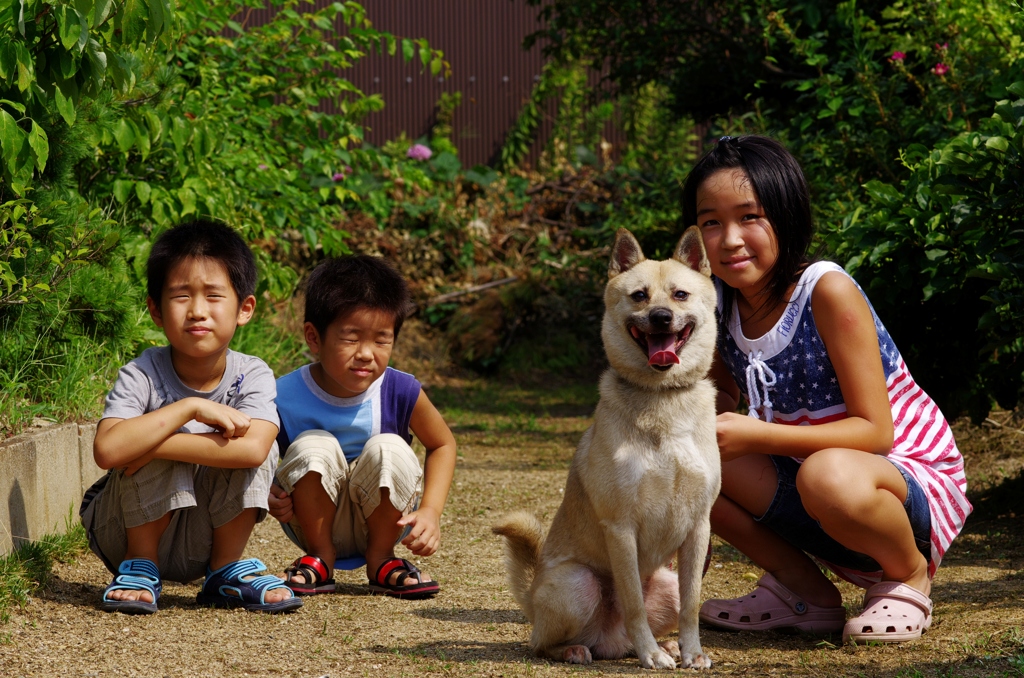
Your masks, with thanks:
<instances>
[{"instance_id":1,"label":"dark green leafy bush at right edge, behind the girl's back","mask_svg":"<svg viewBox=\"0 0 1024 678\"><path fill-rule=\"evenodd\" d=\"M929 392L975 420L1024 396L1024 81L829 235Z\"/></svg>"}]
</instances>

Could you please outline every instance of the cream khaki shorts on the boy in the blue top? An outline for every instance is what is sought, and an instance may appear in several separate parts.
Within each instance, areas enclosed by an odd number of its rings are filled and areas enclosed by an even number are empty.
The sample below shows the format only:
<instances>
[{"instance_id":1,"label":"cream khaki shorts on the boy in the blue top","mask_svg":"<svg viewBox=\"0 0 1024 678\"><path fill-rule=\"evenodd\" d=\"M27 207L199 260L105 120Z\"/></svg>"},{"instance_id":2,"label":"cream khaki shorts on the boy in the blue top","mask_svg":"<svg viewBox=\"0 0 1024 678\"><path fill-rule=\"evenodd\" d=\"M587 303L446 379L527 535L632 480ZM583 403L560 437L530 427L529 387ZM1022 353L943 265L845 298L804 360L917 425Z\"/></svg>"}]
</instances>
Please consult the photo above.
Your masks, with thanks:
<instances>
[{"instance_id":1,"label":"cream khaki shorts on the boy in the blue top","mask_svg":"<svg viewBox=\"0 0 1024 678\"><path fill-rule=\"evenodd\" d=\"M367 516L381 503L387 489L391 505L404 513L416 510L422 492L423 469L416 453L399 435L375 435L351 463L327 431L304 431L288 447L278 467L278 484L292 494L295 483L306 473L319 473L321 484L337 507L332 541L339 558L367 552ZM297 519L285 525L285 533L306 551L302 527Z\"/></svg>"}]
</instances>

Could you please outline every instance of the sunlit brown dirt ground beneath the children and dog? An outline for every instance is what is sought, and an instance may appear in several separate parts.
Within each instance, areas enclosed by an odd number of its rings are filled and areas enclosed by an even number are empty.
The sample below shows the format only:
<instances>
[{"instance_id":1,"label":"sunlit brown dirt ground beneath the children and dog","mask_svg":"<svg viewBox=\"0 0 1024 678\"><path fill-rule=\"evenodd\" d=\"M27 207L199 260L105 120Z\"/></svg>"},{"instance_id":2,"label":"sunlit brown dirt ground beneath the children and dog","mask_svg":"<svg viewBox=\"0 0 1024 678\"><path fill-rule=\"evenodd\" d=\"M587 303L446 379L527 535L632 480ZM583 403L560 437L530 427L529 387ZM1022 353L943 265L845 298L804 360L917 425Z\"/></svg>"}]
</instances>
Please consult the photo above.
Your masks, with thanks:
<instances>
[{"instance_id":1,"label":"sunlit brown dirt ground beneath the children and dog","mask_svg":"<svg viewBox=\"0 0 1024 678\"><path fill-rule=\"evenodd\" d=\"M570 667L534 658L529 625L512 600L501 544L489 526L513 509L549 522L568 461L590 422L593 384L522 387L439 383L430 390L459 440L459 468L442 520L443 544L423 562L442 586L425 601L370 596L361 570L340 591L292 615L207 609L198 585L166 583L160 611L105 613L110 575L86 554L0 626L0 676L562 676L647 673L635 659ZM997 413L955 426L976 510L939 568L935 623L919 642L847 646L840 639L702 629L715 675L1024 675L1024 433ZM408 552L407 552L408 554ZM280 569L299 555L272 518L248 555ZM703 597L733 597L760 571L715 544ZM859 591L843 585L859 608Z\"/></svg>"}]
</instances>

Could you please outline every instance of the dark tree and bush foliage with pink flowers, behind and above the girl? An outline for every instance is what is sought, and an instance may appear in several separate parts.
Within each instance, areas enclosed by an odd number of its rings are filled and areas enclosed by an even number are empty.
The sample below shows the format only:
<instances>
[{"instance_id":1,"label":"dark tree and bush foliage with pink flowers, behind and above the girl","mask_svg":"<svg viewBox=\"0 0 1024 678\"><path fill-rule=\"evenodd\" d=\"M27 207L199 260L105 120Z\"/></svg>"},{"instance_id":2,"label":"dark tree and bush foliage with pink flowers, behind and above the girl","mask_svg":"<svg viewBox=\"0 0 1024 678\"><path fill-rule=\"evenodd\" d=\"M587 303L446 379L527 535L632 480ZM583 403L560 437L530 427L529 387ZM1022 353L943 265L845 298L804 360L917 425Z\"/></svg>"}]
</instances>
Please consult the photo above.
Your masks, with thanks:
<instances>
[{"instance_id":1,"label":"dark tree and bush foliage with pink flowers, behind and above the girl","mask_svg":"<svg viewBox=\"0 0 1024 678\"><path fill-rule=\"evenodd\" d=\"M541 6L548 24L531 39L545 40L559 59L603 65L613 94L653 83L673 111L719 133L785 142L811 182L825 256L870 291L914 374L949 414L983 416L993 394L1004 407L1020 401L1024 316L1011 291L1022 278L1009 263L1024 260L1013 207L1021 194L1013 151L1020 121L1006 109L1016 104L997 102L1019 96L1020 7L986 0ZM673 198L664 186L659 193Z\"/></svg>"}]
</instances>

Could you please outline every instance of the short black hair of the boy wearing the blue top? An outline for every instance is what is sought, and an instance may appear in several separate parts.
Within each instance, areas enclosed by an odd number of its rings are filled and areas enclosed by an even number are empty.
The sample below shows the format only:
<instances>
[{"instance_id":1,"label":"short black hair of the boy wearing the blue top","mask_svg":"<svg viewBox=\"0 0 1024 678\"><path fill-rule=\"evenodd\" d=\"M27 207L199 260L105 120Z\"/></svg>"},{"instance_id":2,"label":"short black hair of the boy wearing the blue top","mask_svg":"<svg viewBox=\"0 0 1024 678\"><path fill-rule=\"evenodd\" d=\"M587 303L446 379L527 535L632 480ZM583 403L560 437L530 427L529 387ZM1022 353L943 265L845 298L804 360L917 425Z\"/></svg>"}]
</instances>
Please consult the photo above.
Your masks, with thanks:
<instances>
[{"instance_id":1,"label":"short black hair of the boy wearing the blue top","mask_svg":"<svg viewBox=\"0 0 1024 678\"><path fill-rule=\"evenodd\" d=\"M321 337L331 323L357 308L392 315L397 338L412 310L406 280L384 259L366 254L328 259L309 274L305 322L312 323Z\"/></svg>"}]
</instances>

